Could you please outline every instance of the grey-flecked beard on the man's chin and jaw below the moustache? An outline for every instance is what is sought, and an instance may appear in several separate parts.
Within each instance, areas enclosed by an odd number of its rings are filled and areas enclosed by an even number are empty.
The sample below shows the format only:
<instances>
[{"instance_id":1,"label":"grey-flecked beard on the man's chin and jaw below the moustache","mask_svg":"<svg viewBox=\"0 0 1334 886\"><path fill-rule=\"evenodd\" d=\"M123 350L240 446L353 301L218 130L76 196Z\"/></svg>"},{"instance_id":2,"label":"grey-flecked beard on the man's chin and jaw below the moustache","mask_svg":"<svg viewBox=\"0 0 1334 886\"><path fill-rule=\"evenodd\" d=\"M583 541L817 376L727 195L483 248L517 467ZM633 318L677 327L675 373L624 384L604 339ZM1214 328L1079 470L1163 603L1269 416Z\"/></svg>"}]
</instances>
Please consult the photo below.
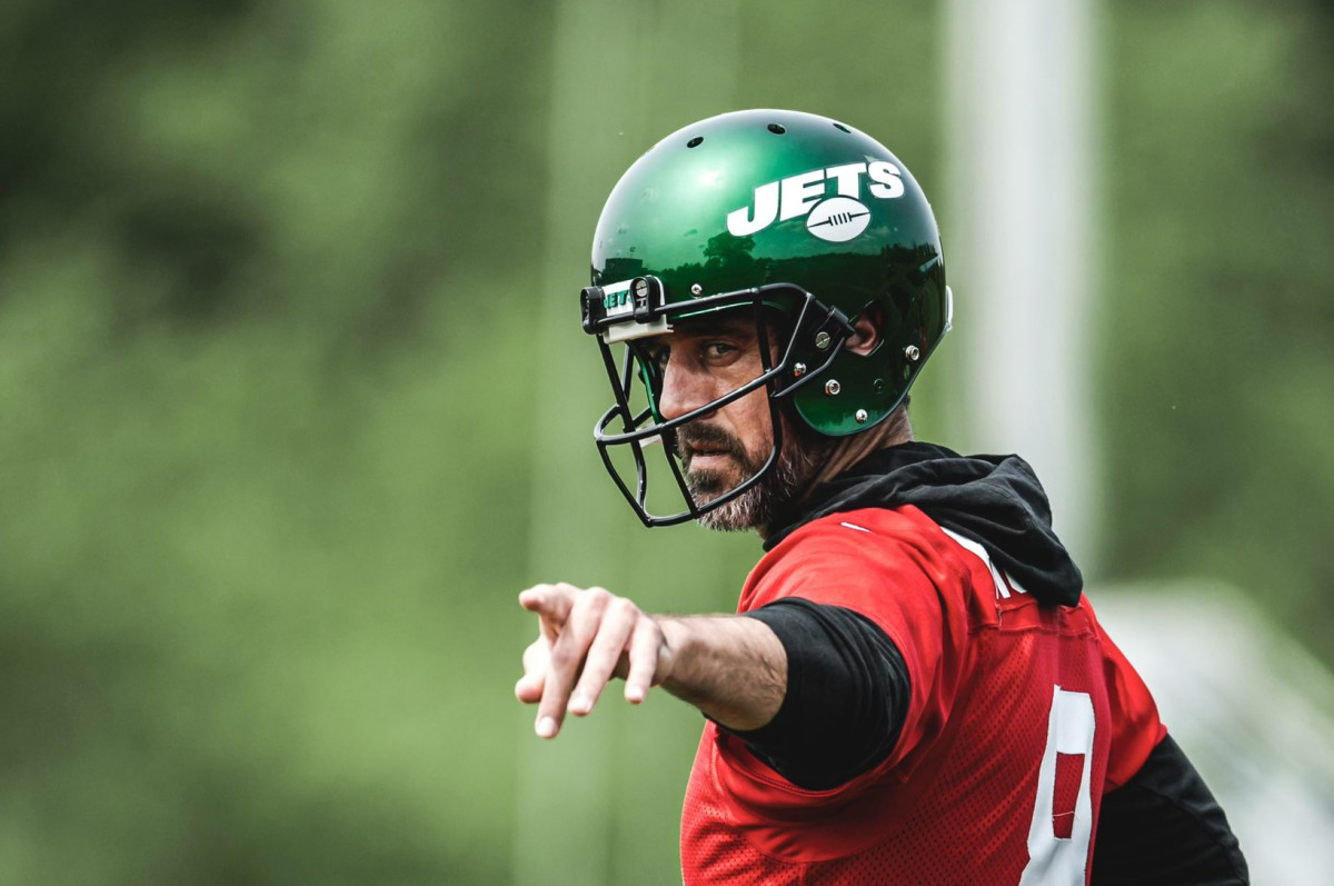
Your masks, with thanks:
<instances>
[{"instance_id":1,"label":"grey-flecked beard on the man's chin and jaw below the moustache","mask_svg":"<svg viewBox=\"0 0 1334 886\"><path fill-rule=\"evenodd\" d=\"M834 440L799 435L787 423L784 423L783 430L783 450L779 452L774 470L732 500L702 514L698 518L702 526L722 532L740 532L767 526L779 508L791 502L806 487L824 456L834 447ZM734 458L738 458L735 452ZM742 466L742 478L736 486L740 486L764 467L768 456L766 455L759 463L740 458L738 460ZM707 504L734 488L727 486L723 478L714 471L690 471L688 463L686 467L686 487L696 506Z\"/></svg>"}]
</instances>

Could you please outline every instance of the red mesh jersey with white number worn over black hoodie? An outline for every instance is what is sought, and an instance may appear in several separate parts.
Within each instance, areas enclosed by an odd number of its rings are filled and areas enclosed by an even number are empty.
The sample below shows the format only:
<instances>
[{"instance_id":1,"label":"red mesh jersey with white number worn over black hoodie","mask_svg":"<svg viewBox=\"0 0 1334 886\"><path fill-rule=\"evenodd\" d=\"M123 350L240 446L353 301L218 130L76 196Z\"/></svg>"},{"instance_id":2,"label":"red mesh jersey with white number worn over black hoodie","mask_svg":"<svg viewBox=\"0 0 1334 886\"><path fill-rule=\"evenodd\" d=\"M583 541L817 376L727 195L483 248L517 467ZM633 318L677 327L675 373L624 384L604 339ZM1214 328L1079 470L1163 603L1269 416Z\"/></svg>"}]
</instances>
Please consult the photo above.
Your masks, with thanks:
<instances>
[{"instance_id":1,"label":"red mesh jersey with white number worn over black hoodie","mask_svg":"<svg viewBox=\"0 0 1334 886\"><path fill-rule=\"evenodd\" d=\"M911 506L803 526L738 611L784 596L888 634L911 681L903 731L876 769L807 791L707 725L682 817L687 886L1087 882L1103 793L1165 734L1087 599L1038 606Z\"/></svg>"}]
</instances>

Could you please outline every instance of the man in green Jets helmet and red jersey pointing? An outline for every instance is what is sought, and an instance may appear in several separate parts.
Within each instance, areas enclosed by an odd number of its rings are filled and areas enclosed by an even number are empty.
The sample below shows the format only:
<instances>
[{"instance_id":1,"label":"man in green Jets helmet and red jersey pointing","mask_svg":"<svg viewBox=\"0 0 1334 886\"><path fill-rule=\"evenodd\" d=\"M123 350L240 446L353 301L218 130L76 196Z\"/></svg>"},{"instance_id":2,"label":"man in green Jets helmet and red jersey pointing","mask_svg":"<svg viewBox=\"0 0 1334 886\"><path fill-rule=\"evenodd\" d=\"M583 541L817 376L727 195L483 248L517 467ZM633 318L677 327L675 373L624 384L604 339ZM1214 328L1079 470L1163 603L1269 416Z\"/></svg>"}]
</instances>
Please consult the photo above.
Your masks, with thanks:
<instances>
[{"instance_id":1,"label":"man in green Jets helmet and red jersey pointing","mask_svg":"<svg viewBox=\"0 0 1334 886\"><path fill-rule=\"evenodd\" d=\"M766 554L738 615L524 591L516 694L543 738L612 677L703 711L687 883L1247 882L1029 466L912 440L951 295L894 155L787 111L686 127L612 191L592 283L616 486L648 526L755 528Z\"/></svg>"}]
</instances>

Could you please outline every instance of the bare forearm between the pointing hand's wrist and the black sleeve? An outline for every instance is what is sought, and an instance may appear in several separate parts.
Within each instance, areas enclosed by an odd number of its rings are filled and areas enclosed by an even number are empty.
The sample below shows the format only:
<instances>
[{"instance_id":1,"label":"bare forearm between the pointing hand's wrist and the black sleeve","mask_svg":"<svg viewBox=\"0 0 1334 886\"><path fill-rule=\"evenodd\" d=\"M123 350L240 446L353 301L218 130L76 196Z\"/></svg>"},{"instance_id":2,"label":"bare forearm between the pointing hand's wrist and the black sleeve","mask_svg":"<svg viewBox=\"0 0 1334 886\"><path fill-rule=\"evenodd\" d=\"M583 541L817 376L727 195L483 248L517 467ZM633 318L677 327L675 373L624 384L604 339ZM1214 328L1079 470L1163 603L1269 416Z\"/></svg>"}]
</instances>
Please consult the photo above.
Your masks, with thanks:
<instances>
[{"instance_id":1,"label":"bare forearm between the pointing hand's wrist and the black sleeve","mask_svg":"<svg viewBox=\"0 0 1334 886\"><path fill-rule=\"evenodd\" d=\"M787 652L764 623L736 615L660 615L662 687L731 730L767 725L787 693Z\"/></svg>"}]
</instances>

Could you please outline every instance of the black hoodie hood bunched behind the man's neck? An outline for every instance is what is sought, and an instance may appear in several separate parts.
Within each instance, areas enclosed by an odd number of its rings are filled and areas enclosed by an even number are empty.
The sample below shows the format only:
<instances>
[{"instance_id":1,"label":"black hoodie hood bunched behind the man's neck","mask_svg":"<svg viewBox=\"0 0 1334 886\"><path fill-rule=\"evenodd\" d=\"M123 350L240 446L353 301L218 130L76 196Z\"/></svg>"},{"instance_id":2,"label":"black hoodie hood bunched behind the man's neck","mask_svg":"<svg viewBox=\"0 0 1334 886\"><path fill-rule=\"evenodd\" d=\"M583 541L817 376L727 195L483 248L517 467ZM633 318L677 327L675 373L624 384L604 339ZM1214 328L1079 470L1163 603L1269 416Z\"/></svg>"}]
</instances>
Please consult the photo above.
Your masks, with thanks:
<instances>
[{"instance_id":1,"label":"black hoodie hood bunched behind the man's neck","mask_svg":"<svg viewBox=\"0 0 1334 886\"><path fill-rule=\"evenodd\" d=\"M1079 602L1083 576L1051 531L1047 494L1018 455L959 455L916 442L879 450L780 512L764 550L830 514L903 504L982 544L1041 603Z\"/></svg>"}]
</instances>

